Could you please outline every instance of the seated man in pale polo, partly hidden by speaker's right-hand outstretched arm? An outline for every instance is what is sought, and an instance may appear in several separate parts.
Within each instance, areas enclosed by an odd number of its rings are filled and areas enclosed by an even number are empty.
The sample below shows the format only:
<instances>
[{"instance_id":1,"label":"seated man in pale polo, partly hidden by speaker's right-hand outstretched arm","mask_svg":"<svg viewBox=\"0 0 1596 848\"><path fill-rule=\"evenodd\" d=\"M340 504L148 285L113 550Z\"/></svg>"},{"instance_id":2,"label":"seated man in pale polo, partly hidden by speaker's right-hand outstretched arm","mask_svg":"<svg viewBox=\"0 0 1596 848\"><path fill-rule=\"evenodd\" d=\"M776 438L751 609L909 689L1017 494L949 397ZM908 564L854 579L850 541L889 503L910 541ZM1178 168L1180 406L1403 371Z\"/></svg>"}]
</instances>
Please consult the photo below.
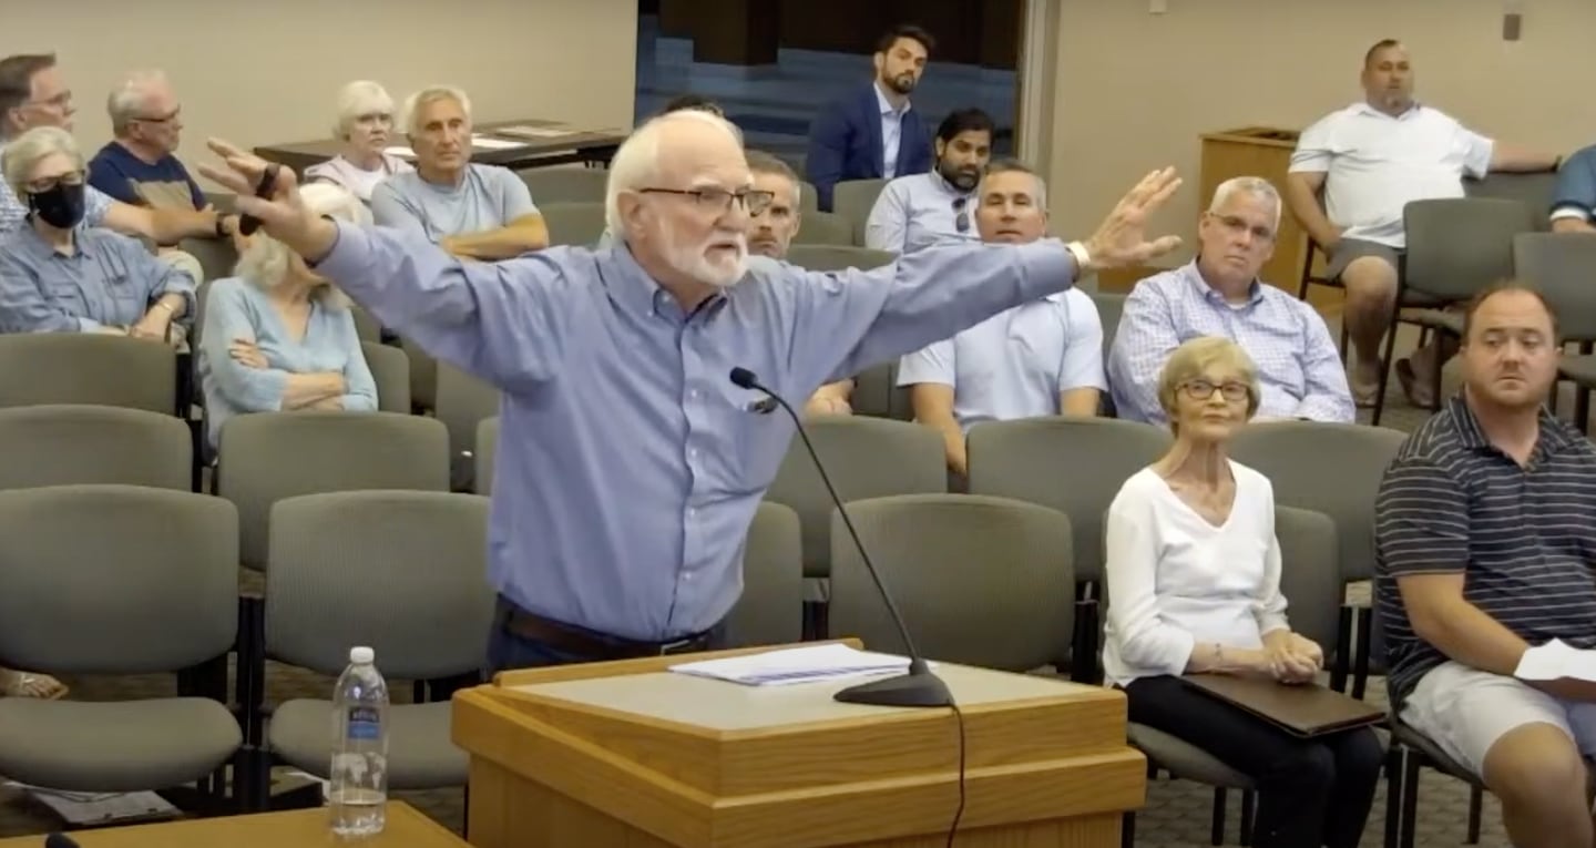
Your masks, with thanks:
<instances>
[{"instance_id":1,"label":"seated man in pale polo, partly hidden by speaker's right-hand outstretched arm","mask_svg":"<svg viewBox=\"0 0 1596 848\"><path fill-rule=\"evenodd\" d=\"M1017 161L982 182L975 225L985 241L1025 244L1047 232L1047 185ZM915 420L942 431L948 470L967 473L964 436L980 422L1096 415L1103 323L1092 297L1069 289L1002 311L911 353L899 364Z\"/></svg>"}]
</instances>

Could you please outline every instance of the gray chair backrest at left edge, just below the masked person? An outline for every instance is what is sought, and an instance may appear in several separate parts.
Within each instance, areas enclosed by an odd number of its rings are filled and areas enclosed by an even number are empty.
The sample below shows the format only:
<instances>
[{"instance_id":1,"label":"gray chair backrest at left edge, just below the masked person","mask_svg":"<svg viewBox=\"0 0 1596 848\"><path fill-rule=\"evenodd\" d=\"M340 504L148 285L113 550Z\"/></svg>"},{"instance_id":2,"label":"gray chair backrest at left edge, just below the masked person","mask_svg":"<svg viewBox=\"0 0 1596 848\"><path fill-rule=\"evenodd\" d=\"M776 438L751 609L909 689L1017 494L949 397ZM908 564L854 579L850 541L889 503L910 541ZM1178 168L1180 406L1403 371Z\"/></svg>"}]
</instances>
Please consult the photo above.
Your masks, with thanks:
<instances>
[{"instance_id":1,"label":"gray chair backrest at left edge, just below the masked person","mask_svg":"<svg viewBox=\"0 0 1596 848\"><path fill-rule=\"evenodd\" d=\"M177 351L126 335L0 335L0 407L97 404L171 415Z\"/></svg>"}]
</instances>

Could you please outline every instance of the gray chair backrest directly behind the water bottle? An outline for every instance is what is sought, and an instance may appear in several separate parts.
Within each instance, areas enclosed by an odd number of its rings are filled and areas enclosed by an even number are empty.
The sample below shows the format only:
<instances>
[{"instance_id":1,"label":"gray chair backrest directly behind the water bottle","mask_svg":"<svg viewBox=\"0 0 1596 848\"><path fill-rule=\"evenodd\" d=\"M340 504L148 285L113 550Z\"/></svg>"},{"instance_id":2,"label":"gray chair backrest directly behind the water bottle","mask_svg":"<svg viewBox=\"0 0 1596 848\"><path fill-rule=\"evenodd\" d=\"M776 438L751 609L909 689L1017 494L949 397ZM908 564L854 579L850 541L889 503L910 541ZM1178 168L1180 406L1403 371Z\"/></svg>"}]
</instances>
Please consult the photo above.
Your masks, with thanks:
<instances>
[{"instance_id":1,"label":"gray chair backrest directly behind the water bottle","mask_svg":"<svg viewBox=\"0 0 1596 848\"><path fill-rule=\"evenodd\" d=\"M488 500L330 492L271 508L267 655L338 674L369 645L388 677L480 669L493 621Z\"/></svg>"}]
</instances>

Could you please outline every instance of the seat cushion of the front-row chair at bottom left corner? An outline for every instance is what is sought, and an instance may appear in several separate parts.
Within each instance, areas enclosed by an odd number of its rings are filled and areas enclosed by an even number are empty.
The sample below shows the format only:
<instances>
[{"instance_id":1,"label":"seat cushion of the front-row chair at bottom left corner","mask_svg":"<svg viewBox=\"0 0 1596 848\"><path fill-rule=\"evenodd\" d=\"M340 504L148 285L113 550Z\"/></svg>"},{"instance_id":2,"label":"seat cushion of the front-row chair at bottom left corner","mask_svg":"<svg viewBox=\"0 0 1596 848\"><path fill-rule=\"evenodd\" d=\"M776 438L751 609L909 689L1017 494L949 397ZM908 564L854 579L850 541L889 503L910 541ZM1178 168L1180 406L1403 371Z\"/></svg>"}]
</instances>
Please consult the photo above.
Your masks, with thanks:
<instances>
[{"instance_id":1,"label":"seat cushion of the front-row chair at bottom left corner","mask_svg":"<svg viewBox=\"0 0 1596 848\"><path fill-rule=\"evenodd\" d=\"M209 698L0 698L0 775L48 789L171 789L215 771L243 741L233 714Z\"/></svg>"}]
</instances>

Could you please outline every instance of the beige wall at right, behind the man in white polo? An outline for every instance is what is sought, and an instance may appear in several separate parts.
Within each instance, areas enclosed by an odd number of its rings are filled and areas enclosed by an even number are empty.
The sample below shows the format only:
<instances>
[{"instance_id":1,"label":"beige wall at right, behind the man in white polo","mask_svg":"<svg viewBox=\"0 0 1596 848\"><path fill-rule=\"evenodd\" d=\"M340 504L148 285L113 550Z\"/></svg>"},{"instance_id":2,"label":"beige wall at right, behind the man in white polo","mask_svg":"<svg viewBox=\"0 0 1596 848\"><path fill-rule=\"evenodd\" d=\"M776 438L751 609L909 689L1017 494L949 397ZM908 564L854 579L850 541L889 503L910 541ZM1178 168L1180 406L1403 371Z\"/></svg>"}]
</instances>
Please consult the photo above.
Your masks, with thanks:
<instances>
[{"instance_id":1,"label":"beige wall at right, behind the man in white polo","mask_svg":"<svg viewBox=\"0 0 1596 848\"><path fill-rule=\"evenodd\" d=\"M1186 185L1156 224L1189 243L1197 136L1306 128L1360 99L1363 51L1385 37L1409 45L1417 96L1478 131L1555 152L1596 142L1596 105L1569 75L1591 54L1591 0L1523 3L1516 43L1500 37L1503 0L1167 0L1160 16L1148 0L1047 2L1061 5L1044 117L1061 235L1085 235L1146 171L1175 164Z\"/></svg>"}]
</instances>

